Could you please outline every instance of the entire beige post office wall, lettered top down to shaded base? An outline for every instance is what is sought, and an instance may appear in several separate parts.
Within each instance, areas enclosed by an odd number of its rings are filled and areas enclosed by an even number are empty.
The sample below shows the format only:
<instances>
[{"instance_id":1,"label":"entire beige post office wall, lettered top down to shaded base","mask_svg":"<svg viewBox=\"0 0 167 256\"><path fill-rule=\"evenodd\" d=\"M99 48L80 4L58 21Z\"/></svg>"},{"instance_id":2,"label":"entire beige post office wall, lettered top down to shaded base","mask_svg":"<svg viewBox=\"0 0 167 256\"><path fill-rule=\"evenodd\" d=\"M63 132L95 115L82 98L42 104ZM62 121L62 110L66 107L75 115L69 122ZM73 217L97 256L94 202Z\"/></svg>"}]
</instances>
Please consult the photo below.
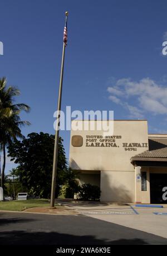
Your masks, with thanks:
<instances>
[{"instance_id":1,"label":"entire beige post office wall, lettered top down to shaded base","mask_svg":"<svg viewBox=\"0 0 167 256\"><path fill-rule=\"evenodd\" d=\"M80 122L83 124L84 121ZM117 138L114 139L113 144L115 143L116 147L86 146L87 136L97 135L106 139L103 132L102 130L71 130L71 138L73 135L82 136L83 145L72 146L70 141L70 167L81 170L81 172L82 170L88 172L91 172L91 170L101 171L101 201L135 202L135 169L130 163L130 158L148 150L147 121L115 120L113 135ZM92 142L94 143L94 141ZM96 142L99 143L99 139ZM91 141L88 143L91 145ZM124 143L127 143L127 145L136 143L137 145L140 144L141 147L128 147ZM89 176L86 177L86 181L87 179L89 179Z\"/></svg>"}]
</instances>

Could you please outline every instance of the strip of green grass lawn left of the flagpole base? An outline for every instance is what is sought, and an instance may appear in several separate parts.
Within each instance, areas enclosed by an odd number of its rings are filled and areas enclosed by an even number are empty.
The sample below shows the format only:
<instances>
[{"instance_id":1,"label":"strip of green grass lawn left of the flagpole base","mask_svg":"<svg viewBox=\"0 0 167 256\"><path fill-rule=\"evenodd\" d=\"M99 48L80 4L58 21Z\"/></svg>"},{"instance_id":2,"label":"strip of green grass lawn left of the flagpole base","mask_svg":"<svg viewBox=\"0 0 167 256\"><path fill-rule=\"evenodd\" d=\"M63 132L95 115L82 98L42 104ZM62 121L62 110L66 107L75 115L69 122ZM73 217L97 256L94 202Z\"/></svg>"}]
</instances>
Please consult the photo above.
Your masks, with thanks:
<instances>
[{"instance_id":1,"label":"strip of green grass lawn left of the flagpole base","mask_svg":"<svg viewBox=\"0 0 167 256\"><path fill-rule=\"evenodd\" d=\"M0 210L23 211L27 208L50 206L47 199L30 199L25 201L1 201Z\"/></svg>"}]
</instances>

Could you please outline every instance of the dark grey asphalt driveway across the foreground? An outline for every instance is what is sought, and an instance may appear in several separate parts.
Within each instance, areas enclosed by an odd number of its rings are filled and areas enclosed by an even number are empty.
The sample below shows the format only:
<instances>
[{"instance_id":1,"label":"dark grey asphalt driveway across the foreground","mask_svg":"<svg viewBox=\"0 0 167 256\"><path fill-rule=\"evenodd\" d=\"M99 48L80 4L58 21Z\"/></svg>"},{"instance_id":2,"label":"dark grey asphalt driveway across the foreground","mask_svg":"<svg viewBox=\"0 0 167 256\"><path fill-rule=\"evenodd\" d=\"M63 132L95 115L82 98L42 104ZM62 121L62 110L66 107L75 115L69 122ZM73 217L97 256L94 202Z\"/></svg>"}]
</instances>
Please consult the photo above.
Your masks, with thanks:
<instances>
[{"instance_id":1,"label":"dark grey asphalt driveway across the foreground","mask_svg":"<svg viewBox=\"0 0 167 256\"><path fill-rule=\"evenodd\" d=\"M93 216L93 215L91 215ZM97 215L96 215L97 216ZM0 212L1 245L167 244L167 239L86 215ZM112 216L114 215L105 215ZM115 215L120 217L123 215ZM124 217L141 215L124 215ZM165 219L166 220L166 219ZM119 222L120 220L118 220Z\"/></svg>"}]
</instances>

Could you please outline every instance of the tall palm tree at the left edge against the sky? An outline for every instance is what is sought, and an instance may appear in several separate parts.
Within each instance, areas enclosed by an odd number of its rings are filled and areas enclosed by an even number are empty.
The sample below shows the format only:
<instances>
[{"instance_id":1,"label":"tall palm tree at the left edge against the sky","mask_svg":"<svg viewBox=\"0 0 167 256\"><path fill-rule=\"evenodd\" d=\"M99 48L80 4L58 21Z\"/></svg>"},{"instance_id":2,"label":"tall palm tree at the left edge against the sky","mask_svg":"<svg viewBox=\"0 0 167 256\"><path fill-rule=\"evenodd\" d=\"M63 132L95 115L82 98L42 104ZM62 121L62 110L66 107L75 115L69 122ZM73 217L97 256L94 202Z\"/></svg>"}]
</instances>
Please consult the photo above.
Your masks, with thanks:
<instances>
[{"instance_id":1,"label":"tall palm tree at the left edge against the sky","mask_svg":"<svg viewBox=\"0 0 167 256\"><path fill-rule=\"evenodd\" d=\"M17 138L23 139L21 126L30 125L28 121L21 121L19 113L21 111L30 111L26 104L13 104L14 96L19 96L18 89L9 86L7 88L6 78L0 79L0 152L3 150L3 166L1 174L1 187L4 187L4 170L6 166L6 146ZM0 156L1 159L1 156ZM0 161L1 165L1 161Z\"/></svg>"}]
</instances>

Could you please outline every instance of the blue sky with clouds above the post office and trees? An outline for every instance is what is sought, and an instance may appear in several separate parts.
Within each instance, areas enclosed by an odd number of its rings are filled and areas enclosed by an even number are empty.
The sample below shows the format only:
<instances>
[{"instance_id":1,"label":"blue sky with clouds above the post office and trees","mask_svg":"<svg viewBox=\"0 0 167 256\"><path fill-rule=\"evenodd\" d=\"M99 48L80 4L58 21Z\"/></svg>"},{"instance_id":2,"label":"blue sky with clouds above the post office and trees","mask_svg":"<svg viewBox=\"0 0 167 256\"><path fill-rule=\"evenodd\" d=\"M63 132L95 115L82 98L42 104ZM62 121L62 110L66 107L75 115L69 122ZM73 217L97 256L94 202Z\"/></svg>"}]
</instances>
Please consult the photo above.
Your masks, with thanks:
<instances>
[{"instance_id":1,"label":"blue sky with clouds above the post office and trees","mask_svg":"<svg viewBox=\"0 0 167 256\"><path fill-rule=\"evenodd\" d=\"M0 77L31 106L23 134L54 133L66 10L62 110L114 110L115 119L145 118L149 132L167 133L166 8L165 0L1 0ZM70 132L60 135L68 158Z\"/></svg>"}]
</instances>

